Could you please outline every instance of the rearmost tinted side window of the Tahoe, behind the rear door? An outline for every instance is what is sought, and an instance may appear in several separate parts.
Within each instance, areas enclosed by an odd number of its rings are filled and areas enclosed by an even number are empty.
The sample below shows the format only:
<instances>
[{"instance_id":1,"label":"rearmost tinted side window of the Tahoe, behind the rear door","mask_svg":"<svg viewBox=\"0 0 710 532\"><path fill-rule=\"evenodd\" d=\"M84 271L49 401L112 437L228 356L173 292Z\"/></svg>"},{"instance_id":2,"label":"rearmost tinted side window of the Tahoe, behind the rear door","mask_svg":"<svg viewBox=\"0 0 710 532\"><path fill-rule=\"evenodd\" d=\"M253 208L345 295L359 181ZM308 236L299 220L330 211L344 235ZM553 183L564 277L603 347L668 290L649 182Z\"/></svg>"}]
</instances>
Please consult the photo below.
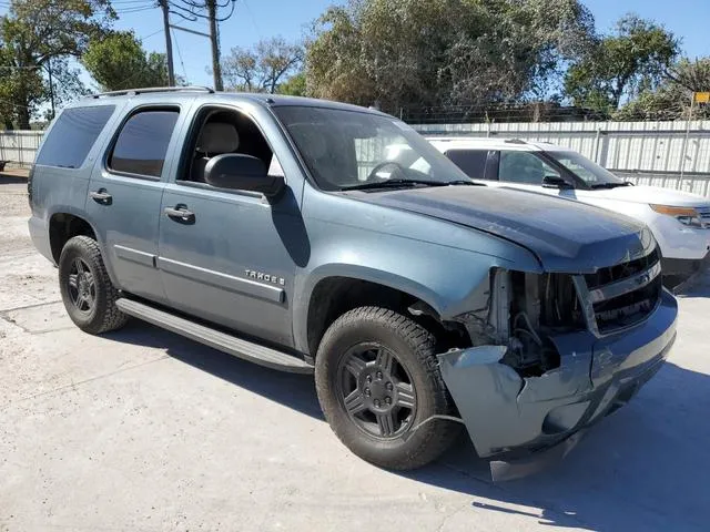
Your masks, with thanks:
<instances>
[{"instance_id":1,"label":"rearmost tinted side window of the Tahoe, behind the rear door","mask_svg":"<svg viewBox=\"0 0 710 532\"><path fill-rule=\"evenodd\" d=\"M114 105L97 105L65 110L57 119L34 162L64 168L80 167L114 109Z\"/></svg>"}]
</instances>

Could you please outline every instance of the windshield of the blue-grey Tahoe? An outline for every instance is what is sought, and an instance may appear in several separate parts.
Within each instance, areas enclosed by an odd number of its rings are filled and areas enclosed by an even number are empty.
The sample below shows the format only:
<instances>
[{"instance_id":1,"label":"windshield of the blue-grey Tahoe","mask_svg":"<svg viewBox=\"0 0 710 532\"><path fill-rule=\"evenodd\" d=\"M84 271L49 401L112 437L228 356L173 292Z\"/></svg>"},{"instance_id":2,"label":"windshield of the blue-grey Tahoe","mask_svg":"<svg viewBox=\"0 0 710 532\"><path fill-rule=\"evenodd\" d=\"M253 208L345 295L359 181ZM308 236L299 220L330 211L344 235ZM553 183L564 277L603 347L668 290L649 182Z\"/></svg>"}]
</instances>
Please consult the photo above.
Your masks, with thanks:
<instances>
[{"instance_id":1,"label":"windshield of the blue-grey Tahoe","mask_svg":"<svg viewBox=\"0 0 710 532\"><path fill-rule=\"evenodd\" d=\"M274 112L323 190L473 184L423 136L394 117L292 105Z\"/></svg>"}]
</instances>

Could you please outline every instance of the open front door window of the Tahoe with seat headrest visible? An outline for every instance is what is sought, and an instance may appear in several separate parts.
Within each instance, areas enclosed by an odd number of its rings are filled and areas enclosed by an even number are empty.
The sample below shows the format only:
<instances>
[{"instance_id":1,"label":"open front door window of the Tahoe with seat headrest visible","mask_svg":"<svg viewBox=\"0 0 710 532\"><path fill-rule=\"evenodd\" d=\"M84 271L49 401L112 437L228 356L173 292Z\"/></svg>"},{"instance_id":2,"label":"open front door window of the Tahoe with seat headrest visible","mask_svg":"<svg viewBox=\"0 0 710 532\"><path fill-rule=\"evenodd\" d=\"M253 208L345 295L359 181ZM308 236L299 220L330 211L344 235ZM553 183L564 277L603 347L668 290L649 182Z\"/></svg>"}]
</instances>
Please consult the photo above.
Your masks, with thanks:
<instances>
[{"instance_id":1,"label":"open front door window of the Tahoe with seat headrest visible","mask_svg":"<svg viewBox=\"0 0 710 532\"><path fill-rule=\"evenodd\" d=\"M281 165L266 139L246 115L224 110L207 110L197 117L202 122L192 140L192 152L183 181L205 183L207 162L225 153L241 153L260 158L268 175L283 175Z\"/></svg>"}]
</instances>

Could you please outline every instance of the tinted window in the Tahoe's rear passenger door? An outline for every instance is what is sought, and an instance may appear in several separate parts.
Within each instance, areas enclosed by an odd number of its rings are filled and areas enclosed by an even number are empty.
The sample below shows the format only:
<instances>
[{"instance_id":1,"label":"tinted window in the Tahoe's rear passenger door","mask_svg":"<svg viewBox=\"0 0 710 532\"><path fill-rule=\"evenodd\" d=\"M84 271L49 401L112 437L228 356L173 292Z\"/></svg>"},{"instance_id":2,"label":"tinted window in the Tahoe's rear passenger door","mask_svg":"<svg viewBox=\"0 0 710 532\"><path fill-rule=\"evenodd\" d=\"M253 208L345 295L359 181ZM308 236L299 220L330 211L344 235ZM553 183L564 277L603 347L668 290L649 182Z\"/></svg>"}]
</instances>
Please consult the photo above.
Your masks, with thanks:
<instances>
[{"instance_id":1,"label":"tinted window in the Tahoe's rear passenger door","mask_svg":"<svg viewBox=\"0 0 710 532\"><path fill-rule=\"evenodd\" d=\"M140 111L121 129L109 168L128 174L160 177L178 110Z\"/></svg>"}]
</instances>

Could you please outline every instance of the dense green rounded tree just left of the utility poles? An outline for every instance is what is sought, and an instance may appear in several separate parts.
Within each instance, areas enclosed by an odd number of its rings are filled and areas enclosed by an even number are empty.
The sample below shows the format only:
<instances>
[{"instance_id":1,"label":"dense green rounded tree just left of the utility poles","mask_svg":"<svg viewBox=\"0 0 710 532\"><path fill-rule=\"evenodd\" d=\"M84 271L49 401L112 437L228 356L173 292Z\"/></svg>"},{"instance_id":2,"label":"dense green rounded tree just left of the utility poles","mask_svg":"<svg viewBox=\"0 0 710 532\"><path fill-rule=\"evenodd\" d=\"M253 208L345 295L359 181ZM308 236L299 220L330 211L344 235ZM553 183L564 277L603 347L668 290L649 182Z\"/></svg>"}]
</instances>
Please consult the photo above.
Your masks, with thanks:
<instances>
[{"instance_id":1,"label":"dense green rounded tree just left of the utility poles","mask_svg":"<svg viewBox=\"0 0 710 532\"><path fill-rule=\"evenodd\" d=\"M91 41L81 62L104 91L169 84L165 54L146 53L131 31Z\"/></svg>"}]
</instances>

